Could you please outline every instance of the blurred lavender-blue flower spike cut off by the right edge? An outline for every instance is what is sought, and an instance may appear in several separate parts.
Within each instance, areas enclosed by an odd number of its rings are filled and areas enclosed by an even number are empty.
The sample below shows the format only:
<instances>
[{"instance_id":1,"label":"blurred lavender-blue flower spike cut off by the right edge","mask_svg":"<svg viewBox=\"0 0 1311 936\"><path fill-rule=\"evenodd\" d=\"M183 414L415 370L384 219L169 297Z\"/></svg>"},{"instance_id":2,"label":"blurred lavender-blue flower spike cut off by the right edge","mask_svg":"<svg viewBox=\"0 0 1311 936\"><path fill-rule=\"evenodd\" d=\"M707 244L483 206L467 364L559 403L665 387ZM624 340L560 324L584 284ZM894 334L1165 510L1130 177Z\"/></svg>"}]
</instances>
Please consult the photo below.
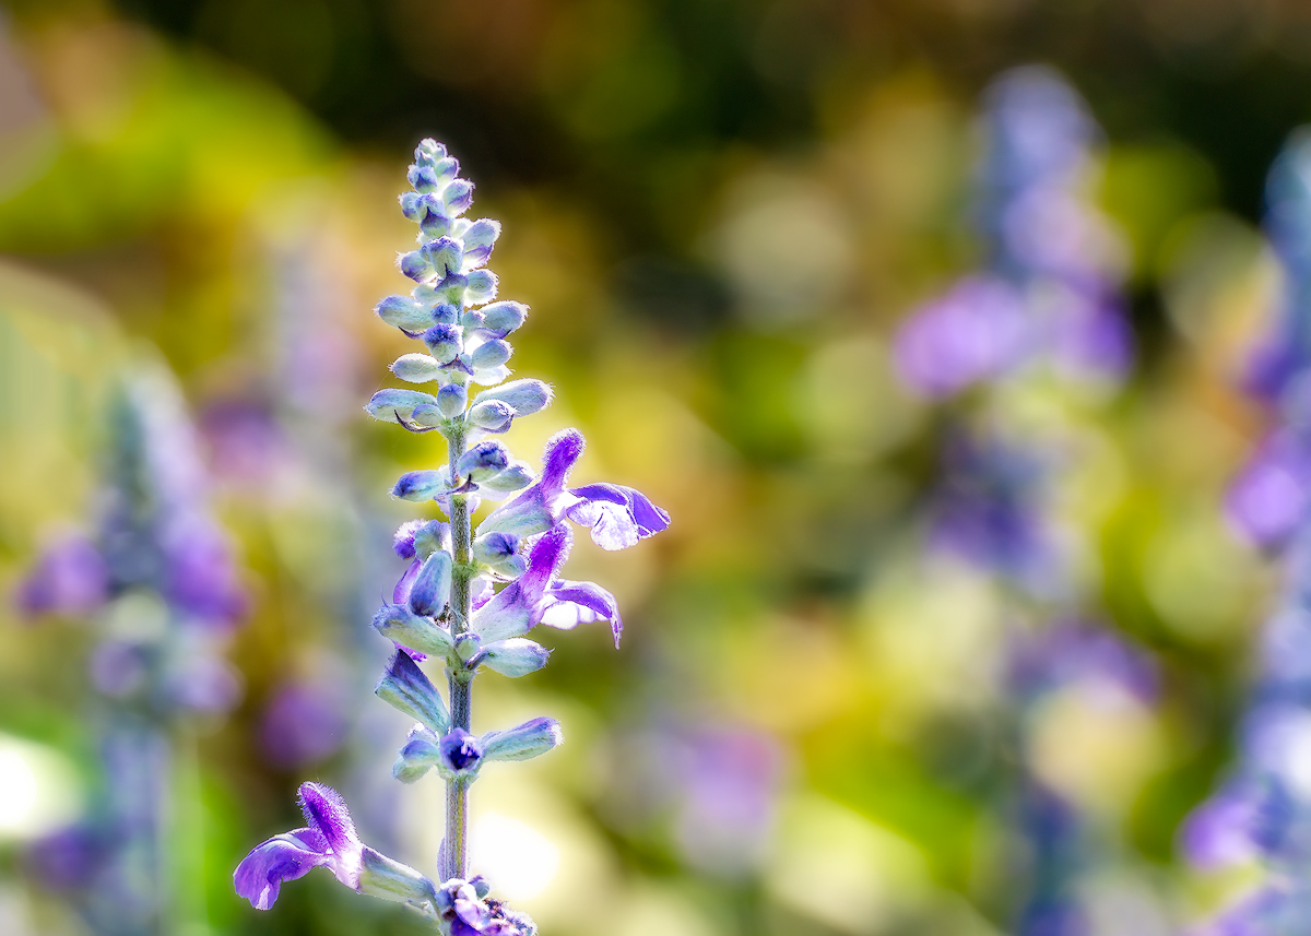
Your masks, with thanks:
<instances>
[{"instance_id":1,"label":"blurred lavender-blue flower spike cut off by the right edge","mask_svg":"<svg viewBox=\"0 0 1311 936\"><path fill-rule=\"evenodd\" d=\"M1307 317L1311 265L1311 136L1295 131L1266 181L1265 227L1286 273L1276 322L1255 357L1247 384L1274 427L1226 498L1230 519L1255 544L1281 556L1283 589L1260 642L1260 669L1240 725L1240 760L1181 832L1200 868L1257 859L1265 880L1222 912L1207 932L1301 932L1311 919L1311 374Z\"/></svg>"}]
</instances>

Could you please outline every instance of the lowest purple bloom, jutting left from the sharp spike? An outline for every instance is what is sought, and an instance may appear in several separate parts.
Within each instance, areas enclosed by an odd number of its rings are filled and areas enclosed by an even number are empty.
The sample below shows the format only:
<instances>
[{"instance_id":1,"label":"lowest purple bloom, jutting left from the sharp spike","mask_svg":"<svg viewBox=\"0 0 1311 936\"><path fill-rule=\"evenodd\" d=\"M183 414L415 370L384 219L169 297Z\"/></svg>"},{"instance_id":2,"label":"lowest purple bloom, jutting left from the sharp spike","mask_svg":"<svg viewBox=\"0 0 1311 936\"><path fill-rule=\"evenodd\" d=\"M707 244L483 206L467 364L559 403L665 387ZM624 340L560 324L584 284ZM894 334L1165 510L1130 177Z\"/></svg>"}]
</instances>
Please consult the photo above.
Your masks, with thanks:
<instances>
[{"instance_id":1,"label":"lowest purple bloom, jutting left from the sharp spike","mask_svg":"<svg viewBox=\"0 0 1311 936\"><path fill-rule=\"evenodd\" d=\"M337 790L316 783L300 785L304 829L274 835L256 846L232 876L237 894L256 910L269 910L283 881L296 881L312 868L328 868L338 881L359 889L363 846Z\"/></svg>"}]
</instances>

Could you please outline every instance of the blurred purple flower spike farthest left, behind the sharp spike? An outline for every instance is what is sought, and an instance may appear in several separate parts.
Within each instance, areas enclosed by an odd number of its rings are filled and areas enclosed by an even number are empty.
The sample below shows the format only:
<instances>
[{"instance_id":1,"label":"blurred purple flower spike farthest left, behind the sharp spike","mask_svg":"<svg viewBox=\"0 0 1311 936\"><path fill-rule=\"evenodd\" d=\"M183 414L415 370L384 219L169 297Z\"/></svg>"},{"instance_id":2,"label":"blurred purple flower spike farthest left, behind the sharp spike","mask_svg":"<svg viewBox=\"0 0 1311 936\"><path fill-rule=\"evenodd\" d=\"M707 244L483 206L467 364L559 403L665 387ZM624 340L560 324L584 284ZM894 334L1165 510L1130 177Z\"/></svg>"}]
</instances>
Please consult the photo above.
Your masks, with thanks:
<instances>
[{"instance_id":1,"label":"blurred purple flower spike farthest left, behind the sharp spike","mask_svg":"<svg viewBox=\"0 0 1311 936\"><path fill-rule=\"evenodd\" d=\"M168 906L161 852L169 734L240 695L222 646L245 596L205 507L197 438L172 381L126 379L109 413L102 513L56 540L18 590L29 614L94 617L90 654L104 788L83 826L38 843L30 867L69 890L93 932L151 932Z\"/></svg>"}]
</instances>

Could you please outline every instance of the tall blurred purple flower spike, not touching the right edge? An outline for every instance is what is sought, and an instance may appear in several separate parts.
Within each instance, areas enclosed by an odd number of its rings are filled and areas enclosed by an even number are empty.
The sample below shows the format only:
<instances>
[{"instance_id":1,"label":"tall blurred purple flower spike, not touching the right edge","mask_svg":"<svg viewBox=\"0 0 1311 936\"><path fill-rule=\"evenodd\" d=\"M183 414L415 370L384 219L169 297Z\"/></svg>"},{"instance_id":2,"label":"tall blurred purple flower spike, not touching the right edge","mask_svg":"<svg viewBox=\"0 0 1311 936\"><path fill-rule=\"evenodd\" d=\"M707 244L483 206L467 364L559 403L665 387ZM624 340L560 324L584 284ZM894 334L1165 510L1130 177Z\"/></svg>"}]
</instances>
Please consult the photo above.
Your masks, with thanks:
<instances>
[{"instance_id":1,"label":"tall blurred purple flower spike, not touching the right edge","mask_svg":"<svg viewBox=\"0 0 1311 936\"><path fill-rule=\"evenodd\" d=\"M1011 617L1050 621L1007 648L1016 705L1003 724L1025 750L1051 693L1089 678L1150 682L1109 631L1065 623L1087 619L1095 602L1079 587L1075 534L1053 510L1058 471L1086 430L1049 423L1038 434L1017 409L1040 393L1088 400L1089 389L1114 388L1131 359L1130 332L1117 244L1083 190L1099 131L1078 94L1049 69L1019 68L994 81L982 122L975 219L986 266L914 312L894 353L910 388L953 408L928 502L929 547L1012 586ZM1096 817L1030 760L1008 768L1007 805L1029 859L1015 927L1083 933L1080 882L1101 860L1091 847Z\"/></svg>"}]
</instances>

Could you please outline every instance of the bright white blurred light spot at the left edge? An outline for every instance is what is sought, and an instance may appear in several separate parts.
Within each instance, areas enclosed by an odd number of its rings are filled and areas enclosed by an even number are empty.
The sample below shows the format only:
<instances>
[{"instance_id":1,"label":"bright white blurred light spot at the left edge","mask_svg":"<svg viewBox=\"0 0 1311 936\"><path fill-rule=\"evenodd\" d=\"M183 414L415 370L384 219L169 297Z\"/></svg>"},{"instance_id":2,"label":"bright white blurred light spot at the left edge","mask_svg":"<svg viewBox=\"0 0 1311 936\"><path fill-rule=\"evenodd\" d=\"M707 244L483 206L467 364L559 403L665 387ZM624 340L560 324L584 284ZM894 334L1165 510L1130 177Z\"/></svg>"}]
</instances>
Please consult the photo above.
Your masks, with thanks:
<instances>
[{"instance_id":1,"label":"bright white blurred light spot at the left edge","mask_svg":"<svg viewBox=\"0 0 1311 936\"><path fill-rule=\"evenodd\" d=\"M72 766L45 745L0 734L0 839L34 839L77 818Z\"/></svg>"}]
</instances>

